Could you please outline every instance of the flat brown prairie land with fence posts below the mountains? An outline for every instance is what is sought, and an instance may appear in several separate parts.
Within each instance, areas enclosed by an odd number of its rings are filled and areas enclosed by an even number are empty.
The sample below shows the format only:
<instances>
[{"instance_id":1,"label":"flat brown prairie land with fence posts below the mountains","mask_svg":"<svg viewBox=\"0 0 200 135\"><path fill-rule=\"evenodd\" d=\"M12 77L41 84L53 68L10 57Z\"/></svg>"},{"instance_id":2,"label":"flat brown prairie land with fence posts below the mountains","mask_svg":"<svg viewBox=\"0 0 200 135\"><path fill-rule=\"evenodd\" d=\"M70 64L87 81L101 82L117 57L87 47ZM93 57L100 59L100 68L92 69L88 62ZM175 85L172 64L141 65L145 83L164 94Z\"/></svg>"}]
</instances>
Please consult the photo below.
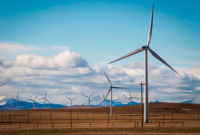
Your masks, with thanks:
<instances>
[{"instance_id":1,"label":"flat brown prairie land with fence posts below the mountains","mask_svg":"<svg viewBox=\"0 0 200 135\"><path fill-rule=\"evenodd\" d=\"M141 105L77 106L0 112L0 135L64 134L200 134L200 104L150 103L149 123Z\"/></svg>"}]
</instances>

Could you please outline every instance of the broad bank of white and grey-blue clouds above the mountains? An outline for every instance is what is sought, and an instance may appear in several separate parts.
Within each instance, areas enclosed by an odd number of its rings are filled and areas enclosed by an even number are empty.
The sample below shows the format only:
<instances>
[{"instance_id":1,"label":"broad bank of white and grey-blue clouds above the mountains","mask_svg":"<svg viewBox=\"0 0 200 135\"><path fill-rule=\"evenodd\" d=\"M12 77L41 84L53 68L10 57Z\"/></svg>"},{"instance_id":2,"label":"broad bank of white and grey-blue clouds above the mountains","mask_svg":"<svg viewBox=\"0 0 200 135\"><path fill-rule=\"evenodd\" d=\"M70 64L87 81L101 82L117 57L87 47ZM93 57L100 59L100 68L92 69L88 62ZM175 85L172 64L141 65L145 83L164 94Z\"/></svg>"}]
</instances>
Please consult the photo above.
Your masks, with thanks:
<instances>
[{"instance_id":1,"label":"broad bank of white and grey-blue clouds above the mountains","mask_svg":"<svg viewBox=\"0 0 200 135\"><path fill-rule=\"evenodd\" d=\"M140 98L139 83L144 80L144 63L131 62L125 66L89 65L79 53L62 51L51 57L36 54L18 55L13 61L0 58L0 82L8 81L1 87L1 96L19 96L23 100L36 95L43 97L48 91L50 102L67 102L66 96L77 97L74 104L86 104L87 99L81 95L104 95L109 83L106 72L114 86L128 87L132 95ZM158 67L149 63L149 100L181 102L194 99L200 102L200 76L192 68L175 68L181 75L177 76L167 67ZM196 71L196 70L195 70ZM128 96L127 90L114 90L114 99Z\"/></svg>"}]
</instances>

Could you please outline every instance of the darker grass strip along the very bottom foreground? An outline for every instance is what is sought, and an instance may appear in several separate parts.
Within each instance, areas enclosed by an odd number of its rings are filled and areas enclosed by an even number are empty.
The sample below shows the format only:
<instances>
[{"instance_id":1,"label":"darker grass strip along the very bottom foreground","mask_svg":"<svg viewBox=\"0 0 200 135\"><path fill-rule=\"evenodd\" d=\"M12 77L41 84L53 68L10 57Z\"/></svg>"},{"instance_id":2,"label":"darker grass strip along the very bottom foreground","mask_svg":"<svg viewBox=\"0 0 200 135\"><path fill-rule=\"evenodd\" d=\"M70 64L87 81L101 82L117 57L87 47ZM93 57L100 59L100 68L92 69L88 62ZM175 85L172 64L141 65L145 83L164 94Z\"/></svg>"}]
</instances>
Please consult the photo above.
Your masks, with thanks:
<instances>
[{"instance_id":1,"label":"darker grass strip along the very bottom foreground","mask_svg":"<svg viewBox=\"0 0 200 135\"><path fill-rule=\"evenodd\" d=\"M200 134L199 127L144 127L144 128L65 128L65 129L22 129L0 131L1 135L65 135L65 134Z\"/></svg>"}]
</instances>

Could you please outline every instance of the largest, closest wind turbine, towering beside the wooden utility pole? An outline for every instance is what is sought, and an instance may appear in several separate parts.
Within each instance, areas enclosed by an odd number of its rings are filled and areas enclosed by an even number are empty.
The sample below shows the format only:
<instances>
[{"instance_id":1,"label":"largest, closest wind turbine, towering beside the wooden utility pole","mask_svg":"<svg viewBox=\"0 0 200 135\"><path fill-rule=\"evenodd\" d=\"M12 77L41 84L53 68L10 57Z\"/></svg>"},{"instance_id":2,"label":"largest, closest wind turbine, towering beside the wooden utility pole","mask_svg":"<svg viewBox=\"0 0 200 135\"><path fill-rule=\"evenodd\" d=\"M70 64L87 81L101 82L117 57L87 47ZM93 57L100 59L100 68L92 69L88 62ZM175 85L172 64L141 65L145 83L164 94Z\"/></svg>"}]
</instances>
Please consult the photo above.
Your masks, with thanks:
<instances>
[{"instance_id":1,"label":"largest, closest wind turbine, towering beside the wooden utility pole","mask_svg":"<svg viewBox=\"0 0 200 135\"><path fill-rule=\"evenodd\" d=\"M174 70L167 62L165 62L158 54L156 54L153 50L150 49L149 44L151 42L151 37L152 37L152 29L153 29L153 13L154 13L154 5L152 7L152 13L151 13L151 21L150 21L150 28L149 28L149 35L148 35L148 39L147 39L147 45L142 46L142 48L139 48L117 60L114 60L110 63L116 62L118 60L124 59L126 57L132 56L134 54L137 54L139 52L145 51L144 53L144 58L145 58L145 64L144 64L144 81L145 81L145 101L144 101L144 122L148 123L149 122L149 118L148 118L148 55L147 52L150 51L150 53L159 61L161 61L163 64L165 64L167 67L169 67L171 70L173 70L175 73L178 74L178 72L176 72L176 70ZM109 63L109 64L110 64ZM178 74L179 75L179 74ZM180 75L179 75L180 76Z\"/></svg>"}]
</instances>

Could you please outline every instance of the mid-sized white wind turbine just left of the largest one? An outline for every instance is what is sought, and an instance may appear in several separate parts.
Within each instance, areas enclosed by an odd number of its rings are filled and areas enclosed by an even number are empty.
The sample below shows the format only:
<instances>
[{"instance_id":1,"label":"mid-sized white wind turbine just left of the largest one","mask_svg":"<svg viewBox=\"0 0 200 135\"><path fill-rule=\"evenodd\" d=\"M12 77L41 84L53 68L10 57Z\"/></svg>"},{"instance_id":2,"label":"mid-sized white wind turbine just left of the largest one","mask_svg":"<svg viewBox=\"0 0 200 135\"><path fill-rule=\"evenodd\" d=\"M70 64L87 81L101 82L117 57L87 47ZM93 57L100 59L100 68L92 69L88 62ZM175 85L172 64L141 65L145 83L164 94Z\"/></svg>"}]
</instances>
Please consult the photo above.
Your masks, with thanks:
<instances>
[{"instance_id":1,"label":"mid-sized white wind turbine just left of the largest one","mask_svg":"<svg viewBox=\"0 0 200 135\"><path fill-rule=\"evenodd\" d=\"M105 72L104 72L104 74L106 75ZM108 79L108 81L109 81L109 83L110 83L110 89L108 90L108 93L107 93L107 95L105 96L104 100L107 98L108 94L110 93L110 97L111 97L111 99L110 99L110 116L112 117L112 89L113 89L113 88L114 88L114 89L127 89L127 88L124 88L124 87L115 87L115 86L112 85L112 83L111 83L111 81L110 81L110 79L108 78L107 75L106 75L106 78ZM103 100L103 101L104 101L104 100ZM103 102L103 101L102 101L102 102Z\"/></svg>"}]
</instances>

